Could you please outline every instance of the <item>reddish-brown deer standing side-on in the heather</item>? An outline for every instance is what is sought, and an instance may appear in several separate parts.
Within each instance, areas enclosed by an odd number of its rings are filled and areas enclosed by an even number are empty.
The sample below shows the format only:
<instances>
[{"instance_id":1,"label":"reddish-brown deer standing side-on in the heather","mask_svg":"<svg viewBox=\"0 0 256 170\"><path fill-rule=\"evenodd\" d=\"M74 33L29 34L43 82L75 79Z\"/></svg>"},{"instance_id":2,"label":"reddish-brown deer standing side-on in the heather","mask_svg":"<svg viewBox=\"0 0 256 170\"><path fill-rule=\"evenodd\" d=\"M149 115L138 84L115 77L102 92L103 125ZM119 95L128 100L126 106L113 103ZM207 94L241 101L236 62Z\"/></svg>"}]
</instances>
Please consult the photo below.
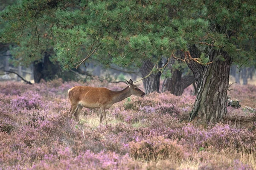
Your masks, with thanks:
<instances>
[{"instance_id":1,"label":"reddish-brown deer standing side-on in the heather","mask_svg":"<svg viewBox=\"0 0 256 170\"><path fill-rule=\"evenodd\" d=\"M90 86L75 86L70 88L67 92L71 104L70 120L74 115L76 121L80 123L79 114L82 108L99 108L99 124L102 123L102 118L104 118L106 125L108 125L105 109L111 108L114 103L121 102L131 95L142 98L145 96L145 93L134 85L131 79L129 81L125 79L125 81L128 87L121 91L111 91L108 88L94 88Z\"/></svg>"}]
</instances>

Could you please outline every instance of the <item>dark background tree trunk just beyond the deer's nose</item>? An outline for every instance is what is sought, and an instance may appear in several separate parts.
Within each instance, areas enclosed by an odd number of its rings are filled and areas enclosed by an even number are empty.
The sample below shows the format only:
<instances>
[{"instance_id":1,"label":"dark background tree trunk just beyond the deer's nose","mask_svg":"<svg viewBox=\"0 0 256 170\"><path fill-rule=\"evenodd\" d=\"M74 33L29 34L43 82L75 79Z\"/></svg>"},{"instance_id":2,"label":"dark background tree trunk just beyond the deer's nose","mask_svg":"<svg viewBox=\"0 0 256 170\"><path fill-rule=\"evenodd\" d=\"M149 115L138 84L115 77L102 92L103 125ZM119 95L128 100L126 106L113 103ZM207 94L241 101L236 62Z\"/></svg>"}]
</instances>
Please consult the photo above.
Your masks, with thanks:
<instances>
[{"instance_id":1,"label":"dark background tree trunk just beyond the deer's nose","mask_svg":"<svg viewBox=\"0 0 256 170\"><path fill-rule=\"evenodd\" d=\"M145 60L143 62L143 65L140 67L140 72L142 77L147 76L150 71L153 69L154 64L149 61ZM143 79L143 85L145 88L145 94L152 93L154 91L157 91L159 93L159 86L160 86L160 73L157 74L151 74L147 78Z\"/></svg>"}]
</instances>

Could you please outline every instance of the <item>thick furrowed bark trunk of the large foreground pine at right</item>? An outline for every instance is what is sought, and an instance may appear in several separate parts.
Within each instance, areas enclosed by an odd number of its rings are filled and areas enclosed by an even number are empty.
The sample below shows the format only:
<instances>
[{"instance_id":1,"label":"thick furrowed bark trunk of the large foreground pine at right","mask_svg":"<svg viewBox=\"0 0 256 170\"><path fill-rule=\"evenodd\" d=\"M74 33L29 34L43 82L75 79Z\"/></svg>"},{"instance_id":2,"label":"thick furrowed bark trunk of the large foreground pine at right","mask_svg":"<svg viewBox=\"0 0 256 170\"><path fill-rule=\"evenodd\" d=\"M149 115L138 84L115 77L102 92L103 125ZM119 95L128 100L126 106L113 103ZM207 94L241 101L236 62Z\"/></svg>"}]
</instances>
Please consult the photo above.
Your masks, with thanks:
<instances>
[{"instance_id":1,"label":"thick furrowed bark trunk of the large foreground pine at right","mask_svg":"<svg viewBox=\"0 0 256 170\"><path fill-rule=\"evenodd\" d=\"M189 48L193 58L198 51L195 45ZM209 65L200 65L197 62L187 62L196 78L198 92L195 105L190 113L189 121L201 119L205 124L218 122L227 114L227 88L229 85L229 74L231 57L221 52L224 61L217 57L216 52L209 47ZM182 56L184 58L184 54Z\"/></svg>"}]
</instances>

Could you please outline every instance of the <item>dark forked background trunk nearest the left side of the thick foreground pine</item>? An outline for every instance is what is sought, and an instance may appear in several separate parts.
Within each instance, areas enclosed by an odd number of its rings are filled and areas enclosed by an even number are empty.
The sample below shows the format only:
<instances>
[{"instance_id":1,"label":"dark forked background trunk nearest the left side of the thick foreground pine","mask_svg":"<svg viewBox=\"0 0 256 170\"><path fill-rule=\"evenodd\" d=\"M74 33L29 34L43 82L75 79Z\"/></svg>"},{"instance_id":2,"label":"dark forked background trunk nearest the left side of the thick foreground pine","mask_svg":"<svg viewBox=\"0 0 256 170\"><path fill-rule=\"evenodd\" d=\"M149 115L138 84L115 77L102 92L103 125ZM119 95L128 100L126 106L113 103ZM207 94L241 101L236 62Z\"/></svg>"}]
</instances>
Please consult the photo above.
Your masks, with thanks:
<instances>
[{"instance_id":1,"label":"dark forked background trunk nearest the left side of the thick foreground pine","mask_svg":"<svg viewBox=\"0 0 256 170\"><path fill-rule=\"evenodd\" d=\"M183 70L181 68L173 68L174 63L175 59L171 58L167 65L167 69L171 70L172 77L164 79L162 92L170 91L171 94L181 96L184 89L195 82L195 78L194 76L182 77Z\"/></svg>"}]
</instances>

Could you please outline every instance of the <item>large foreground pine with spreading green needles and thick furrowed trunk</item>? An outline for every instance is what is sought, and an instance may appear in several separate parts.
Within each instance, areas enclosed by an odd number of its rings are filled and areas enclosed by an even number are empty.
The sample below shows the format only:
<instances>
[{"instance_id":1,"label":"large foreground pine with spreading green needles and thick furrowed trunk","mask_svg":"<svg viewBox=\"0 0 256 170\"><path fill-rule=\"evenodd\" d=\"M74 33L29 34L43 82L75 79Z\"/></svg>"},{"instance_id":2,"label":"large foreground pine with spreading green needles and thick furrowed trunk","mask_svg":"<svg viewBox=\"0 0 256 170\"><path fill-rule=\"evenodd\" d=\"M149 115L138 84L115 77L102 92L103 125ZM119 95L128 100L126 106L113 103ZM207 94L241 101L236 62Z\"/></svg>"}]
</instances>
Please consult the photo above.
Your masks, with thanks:
<instances>
[{"instance_id":1,"label":"large foreground pine with spreading green needles and thick furrowed trunk","mask_svg":"<svg viewBox=\"0 0 256 170\"><path fill-rule=\"evenodd\" d=\"M198 87L190 121L223 119L231 63L255 58L253 0L23 0L1 16L1 42L26 49L23 62L52 45L64 70L89 58L106 66L157 65L157 57L177 58L179 50Z\"/></svg>"}]
</instances>

